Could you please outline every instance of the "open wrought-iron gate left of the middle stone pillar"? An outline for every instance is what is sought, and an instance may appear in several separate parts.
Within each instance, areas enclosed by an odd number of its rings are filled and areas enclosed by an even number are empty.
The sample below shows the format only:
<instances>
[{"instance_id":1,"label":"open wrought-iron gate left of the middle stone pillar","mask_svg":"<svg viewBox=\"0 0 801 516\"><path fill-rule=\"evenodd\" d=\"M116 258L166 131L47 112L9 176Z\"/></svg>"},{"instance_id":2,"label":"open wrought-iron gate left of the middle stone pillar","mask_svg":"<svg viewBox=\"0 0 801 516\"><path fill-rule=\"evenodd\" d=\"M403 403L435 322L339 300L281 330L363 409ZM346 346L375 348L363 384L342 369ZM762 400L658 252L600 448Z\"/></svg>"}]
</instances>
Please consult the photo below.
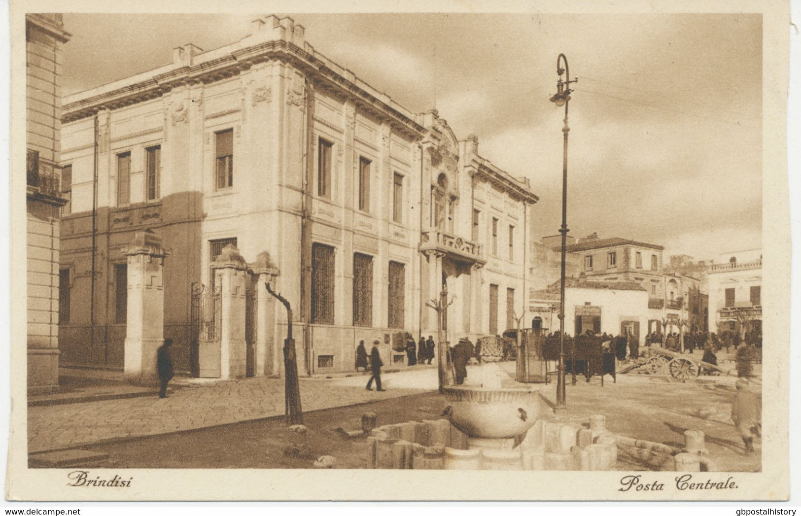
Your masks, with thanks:
<instances>
[{"instance_id":1,"label":"open wrought-iron gate left of the middle stone pillar","mask_svg":"<svg viewBox=\"0 0 801 516\"><path fill-rule=\"evenodd\" d=\"M222 326L220 293L223 285L207 288L198 282L191 286L191 314L189 325L189 363L194 377L200 376L200 342L219 342Z\"/></svg>"}]
</instances>

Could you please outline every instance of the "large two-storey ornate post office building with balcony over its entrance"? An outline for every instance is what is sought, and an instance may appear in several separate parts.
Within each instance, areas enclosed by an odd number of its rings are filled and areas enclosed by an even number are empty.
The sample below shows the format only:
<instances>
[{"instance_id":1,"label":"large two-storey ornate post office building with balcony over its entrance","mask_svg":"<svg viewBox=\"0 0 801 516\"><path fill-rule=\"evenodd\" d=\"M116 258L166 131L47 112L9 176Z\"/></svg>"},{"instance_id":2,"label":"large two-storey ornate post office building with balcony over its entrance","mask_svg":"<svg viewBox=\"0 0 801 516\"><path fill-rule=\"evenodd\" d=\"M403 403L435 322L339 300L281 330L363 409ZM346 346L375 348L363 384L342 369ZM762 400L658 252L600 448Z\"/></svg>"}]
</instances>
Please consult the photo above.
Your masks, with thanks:
<instances>
[{"instance_id":1,"label":"large two-storey ornate post office building with balcony over its entrance","mask_svg":"<svg viewBox=\"0 0 801 516\"><path fill-rule=\"evenodd\" d=\"M147 228L171 249L164 337L179 369L196 368L192 285L215 287L229 244L280 268L306 373L352 370L361 340L404 363L393 345L436 333L425 303L444 287L451 341L502 331L525 307L528 181L437 111L409 111L325 58L292 18L256 19L239 42L190 43L163 67L70 96L64 147L66 361L123 364L120 250ZM264 373L280 373L284 313L276 304Z\"/></svg>"}]
</instances>

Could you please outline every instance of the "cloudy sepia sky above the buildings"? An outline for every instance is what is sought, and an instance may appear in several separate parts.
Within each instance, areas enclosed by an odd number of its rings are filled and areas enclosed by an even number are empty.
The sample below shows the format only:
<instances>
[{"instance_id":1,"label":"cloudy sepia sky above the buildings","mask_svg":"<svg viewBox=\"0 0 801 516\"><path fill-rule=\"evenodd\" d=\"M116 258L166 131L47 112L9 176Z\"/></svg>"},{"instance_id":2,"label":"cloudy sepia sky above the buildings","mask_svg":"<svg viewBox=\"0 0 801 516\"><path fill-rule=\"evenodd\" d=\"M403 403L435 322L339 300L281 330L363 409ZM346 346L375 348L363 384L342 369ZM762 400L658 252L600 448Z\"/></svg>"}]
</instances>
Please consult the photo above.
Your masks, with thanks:
<instances>
[{"instance_id":1,"label":"cloudy sepia sky above the buildings","mask_svg":"<svg viewBox=\"0 0 801 516\"><path fill-rule=\"evenodd\" d=\"M285 15L285 14L282 14ZM570 102L568 225L697 259L761 246L762 29L743 14L288 14L316 50L412 111L436 105L457 137L561 224L556 58ZM65 14L65 95L244 37L255 15Z\"/></svg>"}]
</instances>

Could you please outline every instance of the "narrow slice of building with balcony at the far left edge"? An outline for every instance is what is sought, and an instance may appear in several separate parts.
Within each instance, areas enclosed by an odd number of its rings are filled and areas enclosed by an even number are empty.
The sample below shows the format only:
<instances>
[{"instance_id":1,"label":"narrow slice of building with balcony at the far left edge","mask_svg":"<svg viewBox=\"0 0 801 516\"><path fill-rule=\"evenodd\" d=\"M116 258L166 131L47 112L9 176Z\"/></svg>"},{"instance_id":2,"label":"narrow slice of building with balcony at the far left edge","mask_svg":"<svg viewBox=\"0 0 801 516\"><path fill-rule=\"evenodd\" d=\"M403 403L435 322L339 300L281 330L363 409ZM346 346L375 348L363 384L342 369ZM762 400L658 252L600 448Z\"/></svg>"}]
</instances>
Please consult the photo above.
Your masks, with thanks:
<instances>
[{"instance_id":1,"label":"narrow slice of building with balcony at the far left edge","mask_svg":"<svg viewBox=\"0 0 801 516\"><path fill-rule=\"evenodd\" d=\"M61 14L26 14L27 85L27 284L28 390L46 393L58 387L59 289L69 276L59 273L59 221L69 191L62 193L61 75L62 45L70 34Z\"/></svg>"}]
</instances>

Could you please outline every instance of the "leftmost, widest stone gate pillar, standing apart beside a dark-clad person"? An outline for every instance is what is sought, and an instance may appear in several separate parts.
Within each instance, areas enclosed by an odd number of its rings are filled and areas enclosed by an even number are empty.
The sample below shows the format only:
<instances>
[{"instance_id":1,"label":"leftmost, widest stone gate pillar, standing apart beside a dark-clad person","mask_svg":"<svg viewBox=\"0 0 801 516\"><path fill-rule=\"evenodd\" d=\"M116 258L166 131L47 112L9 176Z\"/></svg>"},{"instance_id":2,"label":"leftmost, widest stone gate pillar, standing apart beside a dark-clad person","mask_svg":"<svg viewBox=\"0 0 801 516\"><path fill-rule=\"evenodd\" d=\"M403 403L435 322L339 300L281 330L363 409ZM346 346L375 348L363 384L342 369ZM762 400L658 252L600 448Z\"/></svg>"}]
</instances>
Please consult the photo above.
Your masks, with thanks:
<instances>
[{"instance_id":1,"label":"leftmost, widest stone gate pillar, standing apart beside a dark-clad person","mask_svg":"<svg viewBox=\"0 0 801 516\"><path fill-rule=\"evenodd\" d=\"M128 257L125 328L126 381L155 383L156 350L164 343L164 258L162 239L150 229L136 232L123 248Z\"/></svg>"}]
</instances>

